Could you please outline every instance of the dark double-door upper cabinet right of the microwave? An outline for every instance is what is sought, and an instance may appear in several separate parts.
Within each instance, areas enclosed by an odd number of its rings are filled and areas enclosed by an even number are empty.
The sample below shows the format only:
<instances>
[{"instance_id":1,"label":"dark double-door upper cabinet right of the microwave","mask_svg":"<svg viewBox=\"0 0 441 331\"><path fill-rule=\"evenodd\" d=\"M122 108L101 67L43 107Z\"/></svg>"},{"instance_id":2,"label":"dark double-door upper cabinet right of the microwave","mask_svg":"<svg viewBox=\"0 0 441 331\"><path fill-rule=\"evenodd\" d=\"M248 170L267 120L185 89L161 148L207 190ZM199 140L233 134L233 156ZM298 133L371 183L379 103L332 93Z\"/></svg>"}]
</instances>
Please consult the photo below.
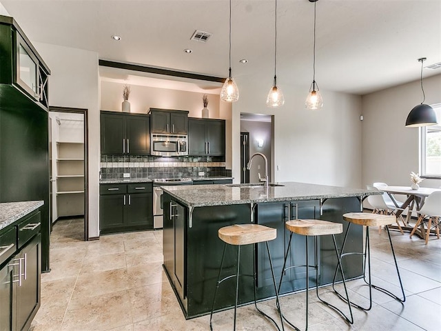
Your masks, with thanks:
<instances>
[{"instance_id":1,"label":"dark double-door upper cabinet right of the microwave","mask_svg":"<svg viewBox=\"0 0 441 331\"><path fill-rule=\"evenodd\" d=\"M225 121L189 119L188 154L225 156Z\"/></svg>"}]
</instances>

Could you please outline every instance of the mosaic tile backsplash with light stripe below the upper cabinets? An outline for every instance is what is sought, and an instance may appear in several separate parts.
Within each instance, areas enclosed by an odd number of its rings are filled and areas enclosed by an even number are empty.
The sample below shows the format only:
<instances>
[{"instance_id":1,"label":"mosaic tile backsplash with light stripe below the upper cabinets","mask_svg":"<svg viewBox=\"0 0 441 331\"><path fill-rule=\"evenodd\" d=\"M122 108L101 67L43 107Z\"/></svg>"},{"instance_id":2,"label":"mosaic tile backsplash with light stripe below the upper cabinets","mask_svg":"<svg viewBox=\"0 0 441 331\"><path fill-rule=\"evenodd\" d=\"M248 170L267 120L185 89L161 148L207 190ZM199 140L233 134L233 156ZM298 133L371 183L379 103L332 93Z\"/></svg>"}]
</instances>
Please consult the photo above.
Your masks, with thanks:
<instances>
[{"instance_id":1,"label":"mosaic tile backsplash with light stripe below the upper cabinets","mask_svg":"<svg viewBox=\"0 0 441 331\"><path fill-rule=\"evenodd\" d=\"M232 176L232 170L225 169L223 157L155 157L144 155L101 155L101 178L123 179L124 173L132 179Z\"/></svg>"}]
</instances>

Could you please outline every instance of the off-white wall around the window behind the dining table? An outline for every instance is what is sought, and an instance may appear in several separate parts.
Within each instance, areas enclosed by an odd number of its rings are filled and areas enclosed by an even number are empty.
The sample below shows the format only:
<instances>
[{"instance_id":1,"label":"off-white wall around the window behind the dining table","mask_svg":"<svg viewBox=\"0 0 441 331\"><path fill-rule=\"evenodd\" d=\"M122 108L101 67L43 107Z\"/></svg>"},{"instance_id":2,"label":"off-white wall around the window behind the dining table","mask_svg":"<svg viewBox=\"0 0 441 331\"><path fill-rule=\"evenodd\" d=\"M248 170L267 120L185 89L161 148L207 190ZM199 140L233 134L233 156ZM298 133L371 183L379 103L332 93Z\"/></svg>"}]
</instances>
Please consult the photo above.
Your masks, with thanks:
<instances>
[{"instance_id":1,"label":"off-white wall around the window behind the dining table","mask_svg":"<svg viewBox=\"0 0 441 331\"><path fill-rule=\"evenodd\" d=\"M426 101L441 102L441 74L424 79ZM419 128L406 128L407 115L421 103L420 81L362 97L362 185L382 181L409 186L410 172L419 172ZM425 179L422 187L438 188L440 179Z\"/></svg>"}]
</instances>

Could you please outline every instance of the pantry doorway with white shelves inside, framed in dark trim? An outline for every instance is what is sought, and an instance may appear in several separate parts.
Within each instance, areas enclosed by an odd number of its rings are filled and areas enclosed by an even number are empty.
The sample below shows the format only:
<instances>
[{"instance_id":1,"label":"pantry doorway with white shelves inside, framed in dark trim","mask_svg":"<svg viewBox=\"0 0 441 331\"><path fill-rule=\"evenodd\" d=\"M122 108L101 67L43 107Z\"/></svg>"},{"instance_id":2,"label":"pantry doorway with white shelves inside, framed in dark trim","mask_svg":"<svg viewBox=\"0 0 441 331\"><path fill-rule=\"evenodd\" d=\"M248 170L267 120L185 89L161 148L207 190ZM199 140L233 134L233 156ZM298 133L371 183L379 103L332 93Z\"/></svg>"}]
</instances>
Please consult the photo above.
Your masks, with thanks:
<instances>
[{"instance_id":1,"label":"pantry doorway with white shelves inside, framed in dark trim","mask_svg":"<svg viewBox=\"0 0 441 331\"><path fill-rule=\"evenodd\" d=\"M50 107L50 220L74 239L88 238L88 112ZM83 223L71 227L70 223ZM82 228L81 233L78 230Z\"/></svg>"}]
</instances>

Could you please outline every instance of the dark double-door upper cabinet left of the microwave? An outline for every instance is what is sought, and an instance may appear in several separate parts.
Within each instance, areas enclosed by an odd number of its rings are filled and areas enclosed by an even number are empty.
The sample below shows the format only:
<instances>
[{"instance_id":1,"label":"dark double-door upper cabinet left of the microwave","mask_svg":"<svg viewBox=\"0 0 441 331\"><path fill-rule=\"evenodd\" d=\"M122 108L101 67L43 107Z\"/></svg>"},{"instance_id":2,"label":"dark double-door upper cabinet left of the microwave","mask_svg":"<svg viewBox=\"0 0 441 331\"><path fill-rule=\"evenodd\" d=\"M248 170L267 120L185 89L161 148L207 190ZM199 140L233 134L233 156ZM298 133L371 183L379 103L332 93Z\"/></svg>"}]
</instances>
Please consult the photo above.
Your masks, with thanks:
<instances>
[{"instance_id":1,"label":"dark double-door upper cabinet left of the microwave","mask_svg":"<svg viewBox=\"0 0 441 331\"><path fill-rule=\"evenodd\" d=\"M101 154L150 154L150 117L102 111Z\"/></svg>"}]
</instances>

